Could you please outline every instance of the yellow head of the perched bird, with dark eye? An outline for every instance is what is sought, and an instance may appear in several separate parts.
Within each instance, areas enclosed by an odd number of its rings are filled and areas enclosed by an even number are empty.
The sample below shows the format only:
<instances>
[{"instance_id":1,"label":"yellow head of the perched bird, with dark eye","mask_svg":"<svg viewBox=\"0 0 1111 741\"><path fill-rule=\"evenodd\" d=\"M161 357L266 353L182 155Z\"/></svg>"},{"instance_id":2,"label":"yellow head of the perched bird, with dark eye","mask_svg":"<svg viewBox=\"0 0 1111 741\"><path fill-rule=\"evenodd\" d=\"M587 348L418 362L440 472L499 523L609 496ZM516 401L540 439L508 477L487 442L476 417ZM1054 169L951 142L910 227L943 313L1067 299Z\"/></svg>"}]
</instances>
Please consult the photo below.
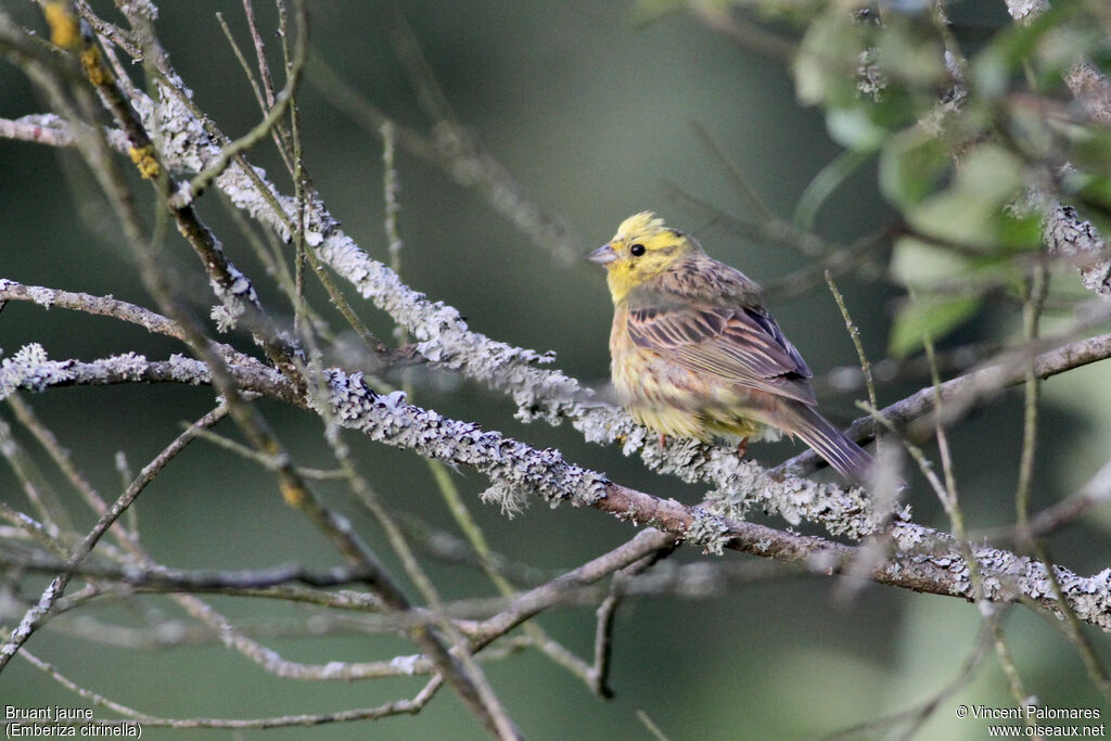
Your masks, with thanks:
<instances>
[{"instance_id":1,"label":"yellow head of the perched bird, with dark eye","mask_svg":"<svg viewBox=\"0 0 1111 741\"><path fill-rule=\"evenodd\" d=\"M605 266L613 303L620 303L629 291L700 249L698 242L669 229L653 212L642 211L622 221L613 239L587 259Z\"/></svg>"}]
</instances>

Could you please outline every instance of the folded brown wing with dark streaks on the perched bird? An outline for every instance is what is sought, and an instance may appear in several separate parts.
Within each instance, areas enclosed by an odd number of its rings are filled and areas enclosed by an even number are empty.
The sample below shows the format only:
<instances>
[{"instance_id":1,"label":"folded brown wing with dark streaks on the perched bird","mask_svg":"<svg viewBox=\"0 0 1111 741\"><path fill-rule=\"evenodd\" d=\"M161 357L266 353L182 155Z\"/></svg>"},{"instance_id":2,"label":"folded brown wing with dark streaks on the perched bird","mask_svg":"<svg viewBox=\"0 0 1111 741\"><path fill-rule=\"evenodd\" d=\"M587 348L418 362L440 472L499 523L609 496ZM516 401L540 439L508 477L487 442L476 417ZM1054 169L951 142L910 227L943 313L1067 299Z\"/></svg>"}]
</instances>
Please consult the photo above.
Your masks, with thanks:
<instances>
[{"instance_id":1,"label":"folded brown wing with dark streaks on the perched bird","mask_svg":"<svg viewBox=\"0 0 1111 741\"><path fill-rule=\"evenodd\" d=\"M815 403L805 361L760 307L638 307L628 317L638 347L728 383Z\"/></svg>"}]
</instances>

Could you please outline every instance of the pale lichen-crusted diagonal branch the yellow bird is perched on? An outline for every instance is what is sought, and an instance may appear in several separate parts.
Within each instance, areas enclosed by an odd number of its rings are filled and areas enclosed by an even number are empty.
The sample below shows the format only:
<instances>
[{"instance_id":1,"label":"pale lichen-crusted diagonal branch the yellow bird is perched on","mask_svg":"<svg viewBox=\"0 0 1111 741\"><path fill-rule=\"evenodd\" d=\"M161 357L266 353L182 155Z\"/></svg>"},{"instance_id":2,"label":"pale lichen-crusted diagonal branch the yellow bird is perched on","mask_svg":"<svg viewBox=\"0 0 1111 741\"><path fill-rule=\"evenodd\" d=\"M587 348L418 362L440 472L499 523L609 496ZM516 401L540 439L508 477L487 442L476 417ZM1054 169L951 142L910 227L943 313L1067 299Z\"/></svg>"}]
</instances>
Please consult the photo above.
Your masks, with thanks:
<instances>
[{"instance_id":1,"label":"pale lichen-crusted diagonal branch the yellow bird is perched on","mask_svg":"<svg viewBox=\"0 0 1111 741\"><path fill-rule=\"evenodd\" d=\"M219 156L220 149L203 134L204 129L191 110L172 91L161 90L161 102L142 97L136 104L159 141L161 157L172 168L203 169ZM280 196L269 184L260 191L257 183L262 174L256 170L248 176L233 162L216 179L216 184L237 207L289 239L287 223L296 213L293 199ZM280 203L284 212L276 213L271 208L273 202ZM473 332L456 309L430 301L409 288L390 268L360 249L318 199L309 203L306 240L360 294L403 327L424 359L508 391L518 404L519 418L543 419L553 424L569 419L588 441L621 440L627 454L640 450L645 463L662 473L677 474L687 481L710 481L720 492L744 492L743 505L732 502L734 513L762 507L791 523L821 522L834 534L853 537L870 530L874 520L868 499L859 491L845 492L832 484L795 479L773 482L759 465L740 462L725 449L693 442L672 444L664 450L647 444L649 433L634 425L625 412L562 372L539 368L538 363L551 360L550 354L514 348Z\"/></svg>"}]
</instances>

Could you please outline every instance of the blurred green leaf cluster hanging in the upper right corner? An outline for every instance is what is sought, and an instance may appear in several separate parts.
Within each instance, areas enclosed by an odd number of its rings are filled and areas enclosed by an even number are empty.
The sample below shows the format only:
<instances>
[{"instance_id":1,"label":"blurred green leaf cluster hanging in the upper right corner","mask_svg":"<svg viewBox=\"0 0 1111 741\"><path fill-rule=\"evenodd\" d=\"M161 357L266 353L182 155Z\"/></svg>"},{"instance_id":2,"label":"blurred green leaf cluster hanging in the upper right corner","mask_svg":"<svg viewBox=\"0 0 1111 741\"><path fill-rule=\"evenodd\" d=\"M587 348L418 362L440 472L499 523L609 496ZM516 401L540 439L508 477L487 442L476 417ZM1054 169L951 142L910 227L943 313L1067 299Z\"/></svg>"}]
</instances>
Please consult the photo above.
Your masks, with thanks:
<instances>
[{"instance_id":1,"label":"blurred green leaf cluster hanging in the upper right corner","mask_svg":"<svg viewBox=\"0 0 1111 741\"><path fill-rule=\"evenodd\" d=\"M830 3L810 19L797 94L823 109L841 146L878 158L880 190L910 234L892 253L908 290L893 353L943 338L987 296L1021 297L1045 203L1111 223L1111 133L1064 83L1078 59L1108 67L1105 21L1090 6L1053 3L970 53L931 3L883 6L879 17Z\"/></svg>"}]
</instances>

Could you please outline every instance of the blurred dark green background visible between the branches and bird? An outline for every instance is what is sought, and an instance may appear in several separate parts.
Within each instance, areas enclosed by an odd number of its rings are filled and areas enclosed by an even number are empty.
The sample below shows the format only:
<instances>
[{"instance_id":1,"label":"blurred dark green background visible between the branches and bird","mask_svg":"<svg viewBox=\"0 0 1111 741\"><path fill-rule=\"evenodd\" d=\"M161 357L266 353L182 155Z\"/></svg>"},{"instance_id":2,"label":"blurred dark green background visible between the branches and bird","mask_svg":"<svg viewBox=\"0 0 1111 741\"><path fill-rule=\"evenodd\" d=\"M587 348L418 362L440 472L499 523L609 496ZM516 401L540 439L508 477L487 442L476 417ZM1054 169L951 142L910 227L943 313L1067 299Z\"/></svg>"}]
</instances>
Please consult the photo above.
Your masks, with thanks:
<instances>
[{"instance_id":1,"label":"blurred dark green background visible between the branches and bird","mask_svg":"<svg viewBox=\"0 0 1111 741\"><path fill-rule=\"evenodd\" d=\"M3 4L27 26L43 28L30 3ZM977 8L955 10L970 43L1009 22L1002 3L969 4ZM309 6L313 53L398 121L427 131L429 121L391 42L396 19L390 3L316 0ZM229 134L247 131L258 120L258 109L216 19L217 12L223 13L248 48L240 4L167 0L159 7L160 38L197 102ZM808 183L840 150L827 134L821 113L797 102L782 62L743 49L684 13L644 22L631 2L427 0L397 7L458 118L534 202L573 227L582 253L605 241L625 216L653 209L672 226L697 234L711 254L759 281L809 263L810 258L790 249L731 233L708 219L704 210L677 198L673 188L724 212L751 218L720 161L695 134L693 124L701 124L771 209L790 218ZM259 7L258 12L261 26L273 29L272 9ZM276 37L267 38L277 44ZM307 166L316 187L348 233L377 258L387 259L380 139L339 112L312 84L303 87L300 103ZM43 109L19 71L0 64L0 116L16 118ZM280 171L269 143L258 147L251 160L276 177ZM398 172L406 241L402 272L408 282L457 307L476 330L513 344L554 350L559 368L601 385L608 375L611 311L601 271L538 248L481 196L403 151ZM72 153L0 140L0 277L111 293L150 306L116 226ZM261 270L218 204L204 203L202 212L223 236L232 259L262 282ZM891 217L878 193L874 168L864 164L827 200L814 231L849 242ZM198 281L187 246L176 242L171 251L182 280ZM873 358L884 353L892 301L899 296L878 278L869 271L839 277ZM823 286L802 296L773 296L770 306L818 375L855 364L843 322ZM389 337L389 326L372 308L360 307L360 313L380 336ZM987 311L948 344L1004 336L1015 326L1017 314L1007 307ZM341 327L340 320L334 319L333 326ZM132 349L166 357L180 350L111 320L33 304L8 306L0 314L0 348L10 357L29 341L41 342L57 359ZM1035 508L1071 492L1107 460L1111 373L1104 366L1070 372L1045 385ZM923 380L887 384L880 389L880 400L895 401ZM418 403L538 447L559 447L570 460L659 495L693 502L701 493L697 487L652 475L638 461L622 458L617 448L587 445L568 427L522 425L513 420L509 401L472 384L450 378L423 381L416 393ZM823 408L831 418L848 421L855 417L854 395L859 394L825 391ZM54 390L28 401L90 479L114 497L120 480L116 452L126 451L130 464L141 467L179 432L182 420L196 419L210 408L212 394L193 388L99 388ZM286 443L298 451L300 463L327 465L319 420L274 404L263 407ZM9 410L0 410L0 418L10 422ZM221 431L234 437L230 425ZM1017 394L953 430L957 475L971 528L1012 521L1020 434ZM28 435L17 430L16 437L34 450ZM361 441L356 444L363 472L392 508L452 529L423 461ZM773 463L792 450L787 444L752 445L749 454ZM568 508L532 507L508 520L497 508L478 503L477 494L487 485L482 477L462 471L456 481L473 502L494 548L543 569L573 567L633 533L611 518ZM63 497L76 498L60 481L54 483ZM388 550L380 531L347 494L327 485L321 490L368 540L383 553ZM0 468L0 497L26 508L7 468ZM945 527L924 487L914 485L909 501L915 520ZM281 503L270 477L204 442L193 444L143 494L138 515L146 545L179 568L336 561L319 534ZM91 523L91 515L86 521ZM1080 573L1105 568L1108 527L1105 514L1097 513L1069 528L1052 541L1055 557ZM674 558L710 557L688 549ZM473 571L436 563L430 569L448 598L493 593ZM24 593L37 594L44 582L28 578ZM582 739L648 738L637 718L639 710L674 739L813 738L910 707L959 675L981 627L974 608L874 585L845 594L835 580L795 575L707 600L630 600L617 620L612 700L591 695L581 682L536 652L490 663L487 671L528 735ZM264 601L211 601L248 625L297 621L306 614ZM153 599L150 604L177 614L166 601ZM104 605L96 614L106 621L142 620L119 605ZM10 615L4 621L12 624ZM589 653L591 610L557 610L540 622L580 653ZM1058 707L1102 707L1075 650L1052 625L1024 610L1008 612L1003 624L1022 678L1038 698ZM326 712L370 707L412 694L421 685L419 679L350 684L283 681L211 642L133 651L84 641L73 631L41 632L28 649L80 684L156 715ZM1108 657L1105 635L1090 634L1097 650ZM287 658L309 662L372 660L409 651L403 642L382 637L270 642ZM954 718L960 703L1010 704L1005 680L992 657L969 685L941 703L923 738L983 738L982 722ZM16 661L0 675L0 704L83 707L87 701L27 662ZM104 710L96 712L101 719L110 717ZM482 738L481 729L447 691L418 718L267 733L273 739ZM200 732L147 729L144 738L193 734Z\"/></svg>"}]
</instances>

